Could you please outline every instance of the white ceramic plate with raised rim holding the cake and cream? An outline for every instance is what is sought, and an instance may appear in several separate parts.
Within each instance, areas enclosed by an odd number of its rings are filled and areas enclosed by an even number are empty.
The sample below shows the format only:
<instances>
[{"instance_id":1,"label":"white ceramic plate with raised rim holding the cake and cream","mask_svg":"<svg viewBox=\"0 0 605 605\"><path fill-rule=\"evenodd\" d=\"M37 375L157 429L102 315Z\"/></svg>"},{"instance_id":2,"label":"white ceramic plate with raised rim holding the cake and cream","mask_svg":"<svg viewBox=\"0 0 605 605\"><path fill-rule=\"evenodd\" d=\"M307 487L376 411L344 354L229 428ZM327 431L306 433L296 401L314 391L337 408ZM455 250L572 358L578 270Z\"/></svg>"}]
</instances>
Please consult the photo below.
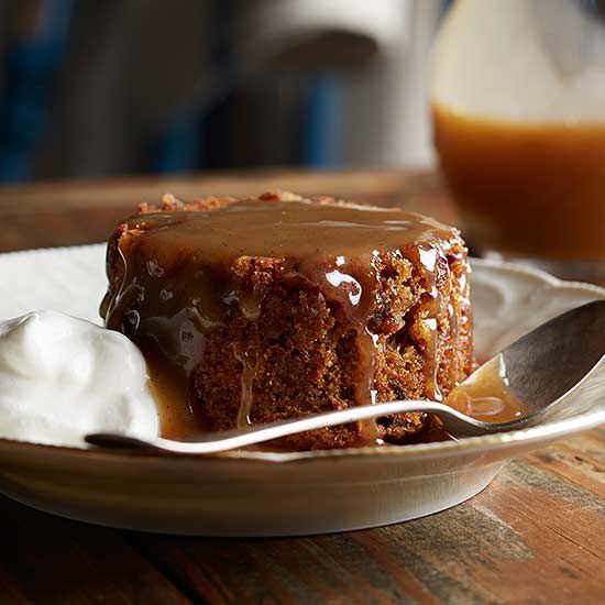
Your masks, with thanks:
<instances>
[{"instance_id":1,"label":"white ceramic plate with raised rim holding the cake and cream","mask_svg":"<svg viewBox=\"0 0 605 605\"><path fill-rule=\"evenodd\" d=\"M55 309L99 322L105 245L0 255L0 318ZM487 358L605 290L473 261L476 352ZM52 396L52 394L48 394ZM505 462L605 421L605 367L532 428L393 448L124 455L0 439L0 490L36 508L114 527L207 536L287 536L373 527L453 506ZM571 397L570 397L571 400Z\"/></svg>"}]
</instances>

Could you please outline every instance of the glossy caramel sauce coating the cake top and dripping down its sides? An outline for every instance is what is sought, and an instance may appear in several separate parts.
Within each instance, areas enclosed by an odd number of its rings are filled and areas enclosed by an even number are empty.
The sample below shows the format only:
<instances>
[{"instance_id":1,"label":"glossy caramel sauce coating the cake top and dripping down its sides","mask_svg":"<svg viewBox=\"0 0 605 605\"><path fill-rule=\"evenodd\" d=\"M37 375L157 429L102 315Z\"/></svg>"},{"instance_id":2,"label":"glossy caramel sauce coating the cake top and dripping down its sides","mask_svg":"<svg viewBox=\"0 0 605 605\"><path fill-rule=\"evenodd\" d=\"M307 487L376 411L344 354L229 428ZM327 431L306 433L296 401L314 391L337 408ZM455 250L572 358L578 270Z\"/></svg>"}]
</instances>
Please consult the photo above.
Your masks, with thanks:
<instances>
[{"instance_id":1,"label":"glossy caramel sauce coating the cake top and dripping down its sides","mask_svg":"<svg viewBox=\"0 0 605 605\"><path fill-rule=\"evenodd\" d=\"M372 332L374 266L378 251L408 257L420 267L428 293L422 302L429 360L427 394L442 400L437 384L437 317L447 305L437 290L439 263L446 261L455 230L398 208L317 204L271 198L241 201L211 212L172 211L135 216L117 250L120 284L110 286L101 314L106 326L125 333L143 351L152 388L161 402L161 431L186 438L204 430L196 413L193 372L204 363L205 339L223 327L233 305L254 320L262 300L239 292L232 268L241 256L284 261L287 275L310 282L339 305L356 327L360 361L353 384L360 405L375 403L376 334ZM111 248L110 248L111 254ZM108 257L108 263L116 262ZM141 267L144 267L143 271ZM144 299L144 305L140 305ZM451 319L455 319L451 305ZM455 327L455 321L452 321ZM250 426L256 361L234 351L242 364L238 428ZM186 402L175 406L173 402ZM362 440L377 439L375 420L364 421Z\"/></svg>"}]
</instances>

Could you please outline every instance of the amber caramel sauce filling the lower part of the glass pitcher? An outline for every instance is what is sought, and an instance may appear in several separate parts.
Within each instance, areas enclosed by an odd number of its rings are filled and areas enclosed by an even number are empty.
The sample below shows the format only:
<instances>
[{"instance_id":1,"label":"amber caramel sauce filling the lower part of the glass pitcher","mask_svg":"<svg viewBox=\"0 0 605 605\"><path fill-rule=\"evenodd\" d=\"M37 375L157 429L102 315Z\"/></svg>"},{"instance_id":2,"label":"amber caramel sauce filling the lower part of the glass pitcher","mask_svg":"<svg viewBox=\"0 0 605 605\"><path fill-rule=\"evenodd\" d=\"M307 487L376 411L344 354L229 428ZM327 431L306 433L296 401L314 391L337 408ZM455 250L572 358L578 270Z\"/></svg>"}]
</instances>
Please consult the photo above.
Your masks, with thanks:
<instances>
[{"instance_id":1,"label":"amber caramel sauce filling the lower part of the glass pitcher","mask_svg":"<svg viewBox=\"0 0 605 605\"><path fill-rule=\"evenodd\" d=\"M605 261L605 122L531 123L433 106L435 144L480 251Z\"/></svg>"}]
</instances>

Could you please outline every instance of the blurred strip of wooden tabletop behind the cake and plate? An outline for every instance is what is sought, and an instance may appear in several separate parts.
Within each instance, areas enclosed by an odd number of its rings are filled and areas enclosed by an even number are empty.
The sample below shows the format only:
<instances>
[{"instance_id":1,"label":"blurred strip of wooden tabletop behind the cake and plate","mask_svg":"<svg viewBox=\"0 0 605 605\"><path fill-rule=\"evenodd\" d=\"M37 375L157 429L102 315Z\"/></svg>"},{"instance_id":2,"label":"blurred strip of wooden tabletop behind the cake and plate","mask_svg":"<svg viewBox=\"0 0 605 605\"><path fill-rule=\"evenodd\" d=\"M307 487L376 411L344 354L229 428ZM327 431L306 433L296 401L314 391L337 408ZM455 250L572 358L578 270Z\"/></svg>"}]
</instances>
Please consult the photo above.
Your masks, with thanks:
<instances>
[{"instance_id":1,"label":"blurred strip of wooden tabletop behind the cake and plate","mask_svg":"<svg viewBox=\"0 0 605 605\"><path fill-rule=\"evenodd\" d=\"M172 193L183 199L252 196L271 189L324 194L356 201L405 206L446 222L455 213L430 173L300 173L266 170L179 179L135 178L0 187L0 252L102 242L141 201Z\"/></svg>"}]
</instances>

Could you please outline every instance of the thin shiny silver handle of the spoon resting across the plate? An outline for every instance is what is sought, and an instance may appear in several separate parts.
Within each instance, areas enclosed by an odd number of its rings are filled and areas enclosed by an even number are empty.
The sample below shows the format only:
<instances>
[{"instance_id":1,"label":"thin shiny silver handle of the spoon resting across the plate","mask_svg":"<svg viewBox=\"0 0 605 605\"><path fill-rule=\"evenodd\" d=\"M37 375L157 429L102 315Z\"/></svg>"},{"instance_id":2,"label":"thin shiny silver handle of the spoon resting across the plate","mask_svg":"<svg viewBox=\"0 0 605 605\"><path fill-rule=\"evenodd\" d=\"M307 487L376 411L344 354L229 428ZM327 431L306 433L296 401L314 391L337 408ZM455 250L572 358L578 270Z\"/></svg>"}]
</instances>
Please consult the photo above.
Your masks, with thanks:
<instances>
[{"instance_id":1,"label":"thin shiny silver handle of the spoon resting across the plate","mask_svg":"<svg viewBox=\"0 0 605 605\"><path fill-rule=\"evenodd\" d=\"M348 422L407 411L428 411L436 414L443 421L446 430L453 435L473 436L485 435L486 432L493 431L490 422L480 422L443 404L427 400L397 400L271 422L251 429L209 432L201 436L196 442L173 441L162 438L139 439L125 435L102 432L87 435L85 439L87 443L111 449L153 448L175 453L208 454L254 446L264 441L308 430L345 425ZM502 427L502 425L498 426ZM499 430L502 430L502 428Z\"/></svg>"}]
</instances>

